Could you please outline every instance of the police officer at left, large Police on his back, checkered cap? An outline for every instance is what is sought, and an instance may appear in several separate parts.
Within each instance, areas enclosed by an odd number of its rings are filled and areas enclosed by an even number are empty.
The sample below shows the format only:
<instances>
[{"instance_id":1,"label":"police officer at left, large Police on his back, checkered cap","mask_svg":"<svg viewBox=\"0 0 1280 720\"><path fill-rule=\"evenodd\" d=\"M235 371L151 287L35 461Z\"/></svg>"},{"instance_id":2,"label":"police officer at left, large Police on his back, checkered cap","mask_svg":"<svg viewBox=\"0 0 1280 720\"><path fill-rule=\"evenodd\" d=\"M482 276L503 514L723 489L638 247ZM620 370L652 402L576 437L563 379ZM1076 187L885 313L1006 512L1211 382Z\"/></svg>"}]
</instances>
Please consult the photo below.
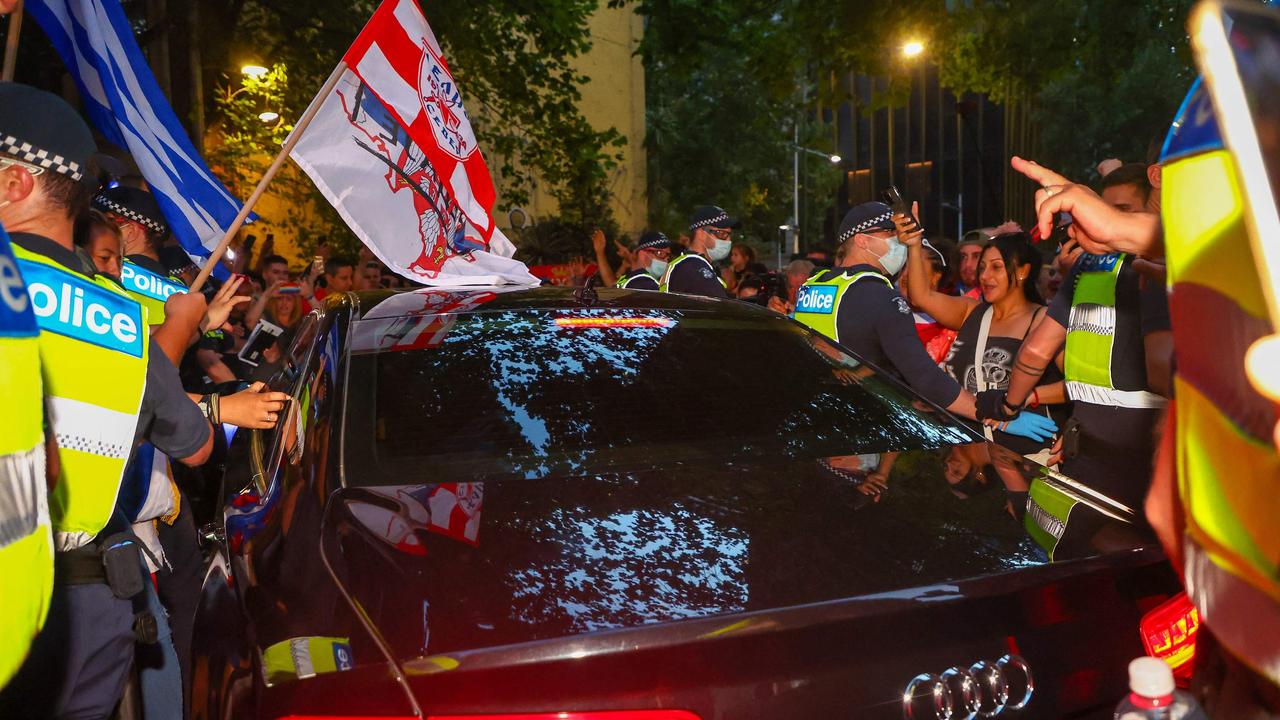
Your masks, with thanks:
<instances>
[{"instance_id":1,"label":"police officer at left, large Police on his back, checkered cap","mask_svg":"<svg viewBox=\"0 0 1280 720\"><path fill-rule=\"evenodd\" d=\"M146 310L73 250L95 190L93 137L60 97L0 83L0 224L40 327L44 393L59 446L50 492L54 593L45 629L0 693L4 717L102 717L124 687L143 588L116 493L140 441L198 465L212 432L173 364L147 337ZM168 322L195 333L200 295L170 297ZM35 383L35 378L31 379Z\"/></svg>"}]
</instances>

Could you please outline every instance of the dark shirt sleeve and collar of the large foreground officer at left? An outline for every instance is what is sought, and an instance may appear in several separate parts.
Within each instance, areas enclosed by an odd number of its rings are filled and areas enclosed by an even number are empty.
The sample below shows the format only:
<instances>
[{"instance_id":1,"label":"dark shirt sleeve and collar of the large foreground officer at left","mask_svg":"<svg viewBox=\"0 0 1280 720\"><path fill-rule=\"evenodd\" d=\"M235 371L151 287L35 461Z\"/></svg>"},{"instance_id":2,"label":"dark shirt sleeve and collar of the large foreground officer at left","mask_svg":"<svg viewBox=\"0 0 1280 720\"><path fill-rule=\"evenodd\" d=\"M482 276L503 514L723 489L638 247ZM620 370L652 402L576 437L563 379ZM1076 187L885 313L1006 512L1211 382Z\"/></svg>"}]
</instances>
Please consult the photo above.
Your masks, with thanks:
<instances>
[{"instance_id":1,"label":"dark shirt sleeve and collar of the large foreground officer at left","mask_svg":"<svg viewBox=\"0 0 1280 720\"><path fill-rule=\"evenodd\" d=\"M9 238L69 270L86 277L95 274L91 268L83 266L81 256L52 240L31 233L13 233ZM134 443L145 439L169 457L195 455L205 446L209 433L212 432L209 420L183 392L178 369L154 340L148 342L151 345L147 356L147 384L142 392L142 405L138 407ZM111 378L101 380L108 383Z\"/></svg>"}]
</instances>

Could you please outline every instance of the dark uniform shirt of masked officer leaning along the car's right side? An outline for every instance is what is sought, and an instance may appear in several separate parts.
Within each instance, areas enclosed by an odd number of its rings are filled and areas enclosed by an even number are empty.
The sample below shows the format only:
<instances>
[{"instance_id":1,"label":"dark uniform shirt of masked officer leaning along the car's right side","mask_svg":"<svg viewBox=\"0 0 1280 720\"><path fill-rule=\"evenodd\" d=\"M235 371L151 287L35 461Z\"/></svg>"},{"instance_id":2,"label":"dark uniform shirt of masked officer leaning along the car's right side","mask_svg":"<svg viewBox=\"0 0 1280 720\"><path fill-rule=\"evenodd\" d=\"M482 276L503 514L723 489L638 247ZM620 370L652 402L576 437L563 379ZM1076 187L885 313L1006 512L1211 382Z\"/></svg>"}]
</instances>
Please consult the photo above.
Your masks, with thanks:
<instances>
[{"instance_id":1,"label":"dark uniform shirt of masked officer leaning along the car's right side","mask_svg":"<svg viewBox=\"0 0 1280 720\"><path fill-rule=\"evenodd\" d=\"M840 273L883 273L873 265L826 270L819 279ZM877 368L906 380L915 392L947 407L960 396L960 386L938 368L915 332L906 300L888 283L863 278L845 291L836 315L840 343Z\"/></svg>"}]
</instances>

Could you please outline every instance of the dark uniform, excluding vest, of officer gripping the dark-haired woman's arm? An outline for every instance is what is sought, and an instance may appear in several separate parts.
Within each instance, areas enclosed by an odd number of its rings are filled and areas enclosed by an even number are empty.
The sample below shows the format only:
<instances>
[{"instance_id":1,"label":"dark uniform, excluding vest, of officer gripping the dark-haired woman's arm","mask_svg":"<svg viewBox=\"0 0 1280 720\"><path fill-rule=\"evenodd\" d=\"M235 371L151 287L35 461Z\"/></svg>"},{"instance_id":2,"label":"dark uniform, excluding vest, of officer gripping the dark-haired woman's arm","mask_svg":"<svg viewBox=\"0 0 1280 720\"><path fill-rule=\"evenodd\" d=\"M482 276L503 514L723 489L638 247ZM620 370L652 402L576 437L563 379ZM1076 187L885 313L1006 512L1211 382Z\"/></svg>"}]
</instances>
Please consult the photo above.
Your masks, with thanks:
<instances>
[{"instance_id":1,"label":"dark uniform, excluding vest, of officer gripping the dark-haired woman's arm","mask_svg":"<svg viewBox=\"0 0 1280 720\"><path fill-rule=\"evenodd\" d=\"M1071 296L1083 259L1071 266L1048 309L1048 319L1064 328L1070 327ZM1148 387L1143 338L1170 329L1164 283L1143 282L1132 261L1126 263L1116 279L1116 332L1111 351L1112 380L1121 389ZM1162 413L1158 407L1073 402L1071 418L1080 424L1079 454L1065 459L1062 470L1140 511L1156 450L1155 427Z\"/></svg>"}]
</instances>

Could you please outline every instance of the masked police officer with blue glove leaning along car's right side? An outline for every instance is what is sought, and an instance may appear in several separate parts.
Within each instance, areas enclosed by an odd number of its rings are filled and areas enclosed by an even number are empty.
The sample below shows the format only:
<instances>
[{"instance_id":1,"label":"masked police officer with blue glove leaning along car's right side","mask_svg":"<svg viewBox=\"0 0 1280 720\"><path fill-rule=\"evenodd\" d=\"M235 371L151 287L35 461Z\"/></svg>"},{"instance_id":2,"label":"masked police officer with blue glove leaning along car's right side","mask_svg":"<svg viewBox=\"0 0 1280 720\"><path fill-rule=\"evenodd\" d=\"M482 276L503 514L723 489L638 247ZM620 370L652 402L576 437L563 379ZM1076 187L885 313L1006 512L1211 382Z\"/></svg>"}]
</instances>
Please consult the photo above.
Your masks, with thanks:
<instances>
[{"instance_id":1,"label":"masked police officer with blue glove leaning along car's right side","mask_svg":"<svg viewBox=\"0 0 1280 720\"><path fill-rule=\"evenodd\" d=\"M925 352L911 307L893 288L891 278L906 264L906 246L899 242L892 218L883 202L849 210L837 237L845 265L809 278L796 296L794 316L872 365L896 373L936 405L974 419L973 395ZM1037 441L1057 429L1048 418L1030 413L1020 420L1002 429Z\"/></svg>"}]
</instances>

